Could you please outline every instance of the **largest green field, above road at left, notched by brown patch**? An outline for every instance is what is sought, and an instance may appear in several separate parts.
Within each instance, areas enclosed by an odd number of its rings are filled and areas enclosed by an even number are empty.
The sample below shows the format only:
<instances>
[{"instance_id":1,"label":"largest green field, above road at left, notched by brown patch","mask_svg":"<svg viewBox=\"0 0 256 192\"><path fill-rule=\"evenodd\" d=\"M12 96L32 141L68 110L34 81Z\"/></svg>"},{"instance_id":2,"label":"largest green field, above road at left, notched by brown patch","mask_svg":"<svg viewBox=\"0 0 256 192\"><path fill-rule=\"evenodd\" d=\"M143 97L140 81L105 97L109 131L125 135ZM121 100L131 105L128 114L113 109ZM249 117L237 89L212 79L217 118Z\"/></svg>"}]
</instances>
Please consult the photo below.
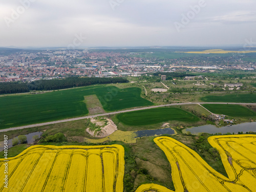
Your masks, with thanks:
<instances>
[{"instance_id":1,"label":"largest green field, above road at left, notched by brown patch","mask_svg":"<svg viewBox=\"0 0 256 192\"><path fill-rule=\"evenodd\" d=\"M0 129L87 115L86 95L97 95L105 111L153 105L140 93L139 88L93 86L0 97Z\"/></svg>"}]
</instances>

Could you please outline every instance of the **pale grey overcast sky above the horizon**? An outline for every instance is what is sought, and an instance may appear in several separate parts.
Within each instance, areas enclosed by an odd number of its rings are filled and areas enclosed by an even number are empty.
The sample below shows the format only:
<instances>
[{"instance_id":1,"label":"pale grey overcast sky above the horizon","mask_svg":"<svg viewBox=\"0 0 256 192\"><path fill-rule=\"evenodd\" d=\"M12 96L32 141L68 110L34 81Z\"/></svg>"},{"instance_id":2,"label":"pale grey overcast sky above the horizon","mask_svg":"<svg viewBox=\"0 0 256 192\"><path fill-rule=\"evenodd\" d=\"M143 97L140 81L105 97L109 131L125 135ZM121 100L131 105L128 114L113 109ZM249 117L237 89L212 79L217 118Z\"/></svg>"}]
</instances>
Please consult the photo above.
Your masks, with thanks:
<instances>
[{"instance_id":1,"label":"pale grey overcast sky above the horizon","mask_svg":"<svg viewBox=\"0 0 256 192\"><path fill-rule=\"evenodd\" d=\"M255 7L255 0L0 0L0 46L244 45L256 41Z\"/></svg>"}]
</instances>

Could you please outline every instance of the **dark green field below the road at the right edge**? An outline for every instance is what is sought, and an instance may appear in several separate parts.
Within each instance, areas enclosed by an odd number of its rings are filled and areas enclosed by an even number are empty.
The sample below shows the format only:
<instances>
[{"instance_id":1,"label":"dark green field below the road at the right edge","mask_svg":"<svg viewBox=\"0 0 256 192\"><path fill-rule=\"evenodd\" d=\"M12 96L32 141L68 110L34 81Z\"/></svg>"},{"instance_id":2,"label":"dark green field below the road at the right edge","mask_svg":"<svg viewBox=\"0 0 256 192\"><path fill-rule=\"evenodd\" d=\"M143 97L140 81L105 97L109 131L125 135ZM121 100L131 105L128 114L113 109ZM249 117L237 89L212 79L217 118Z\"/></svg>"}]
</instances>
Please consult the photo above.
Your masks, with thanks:
<instances>
[{"instance_id":1,"label":"dark green field below the road at the right edge","mask_svg":"<svg viewBox=\"0 0 256 192\"><path fill-rule=\"evenodd\" d=\"M202 104L207 110L215 114L223 114L231 117L252 117L256 113L236 104Z\"/></svg>"}]
</instances>

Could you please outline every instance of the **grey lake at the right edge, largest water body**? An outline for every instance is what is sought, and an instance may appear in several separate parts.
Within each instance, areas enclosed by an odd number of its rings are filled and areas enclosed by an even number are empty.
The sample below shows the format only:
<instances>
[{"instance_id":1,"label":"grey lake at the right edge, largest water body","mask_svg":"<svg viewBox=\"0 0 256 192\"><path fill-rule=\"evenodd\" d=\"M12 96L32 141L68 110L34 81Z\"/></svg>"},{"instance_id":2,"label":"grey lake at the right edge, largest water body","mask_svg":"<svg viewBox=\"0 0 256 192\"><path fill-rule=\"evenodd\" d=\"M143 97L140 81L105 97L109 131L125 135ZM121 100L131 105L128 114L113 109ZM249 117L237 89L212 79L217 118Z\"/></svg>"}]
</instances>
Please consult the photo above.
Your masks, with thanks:
<instances>
[{"instance_id":1,"label":"grey lake at the right edge, largest water body","mask_svg":"<svg viewBox=\"0 0 256 192\"><path fill-rule=\"evenodd\" d=\"M191 134L198 134L198 133L209 133L209 134L216 134L216 133L235 133L238 132L256 132L256 122L250 122L250 123L242 123L232 126L223 126L223 127L216 127L215 125L203 125L203 126L197 126L193 128L186 129L186 131L191 132Z\"/></svg>"}]
</instances>

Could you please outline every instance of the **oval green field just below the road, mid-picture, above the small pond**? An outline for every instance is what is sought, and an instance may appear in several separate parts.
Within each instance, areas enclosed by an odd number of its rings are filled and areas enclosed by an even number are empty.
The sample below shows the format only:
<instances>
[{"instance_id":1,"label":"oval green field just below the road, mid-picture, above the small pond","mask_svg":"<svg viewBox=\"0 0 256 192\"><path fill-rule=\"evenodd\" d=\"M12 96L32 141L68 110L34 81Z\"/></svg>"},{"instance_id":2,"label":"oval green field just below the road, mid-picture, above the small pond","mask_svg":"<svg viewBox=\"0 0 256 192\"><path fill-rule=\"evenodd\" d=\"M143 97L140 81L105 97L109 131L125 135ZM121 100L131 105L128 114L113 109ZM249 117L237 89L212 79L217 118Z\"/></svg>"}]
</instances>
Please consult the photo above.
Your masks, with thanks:
<instances>
[{"instance_id":1,"label":"oval green field just below the road, mid-picture, above the small pond","mask_svg":"<svg viewBox=\"0 0 256 192\"><path fill-rule=\"evenodd\" d=\"M149 125L164 121L196 122L200 119L178 108L155 108L135 112L121 113L117 119L127 125Z\"/></svg>"}]
</instances>

